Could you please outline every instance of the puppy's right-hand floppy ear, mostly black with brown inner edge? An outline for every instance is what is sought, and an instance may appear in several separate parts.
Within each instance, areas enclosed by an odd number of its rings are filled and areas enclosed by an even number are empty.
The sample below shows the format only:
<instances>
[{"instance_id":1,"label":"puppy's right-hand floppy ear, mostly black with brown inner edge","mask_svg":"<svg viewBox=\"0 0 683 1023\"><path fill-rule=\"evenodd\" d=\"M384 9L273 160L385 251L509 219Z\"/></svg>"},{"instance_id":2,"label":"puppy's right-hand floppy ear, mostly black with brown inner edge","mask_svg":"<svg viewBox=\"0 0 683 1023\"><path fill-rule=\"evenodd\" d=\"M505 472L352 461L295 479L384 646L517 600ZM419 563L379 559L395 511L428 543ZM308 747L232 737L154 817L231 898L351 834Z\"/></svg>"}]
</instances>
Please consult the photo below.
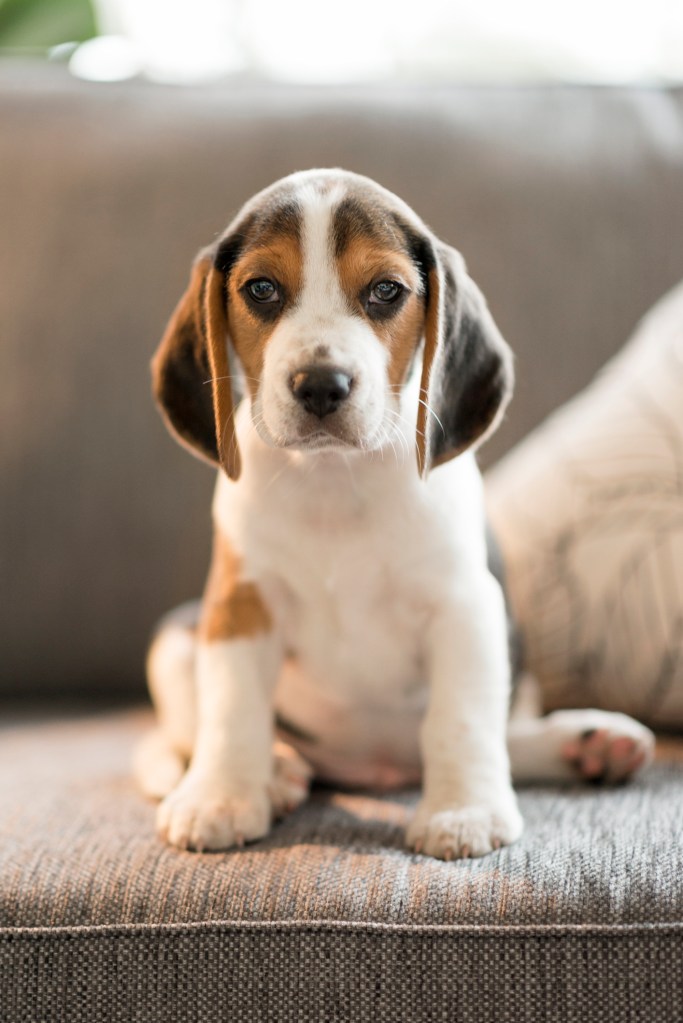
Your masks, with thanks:
<instances>
[{"instance_id":1,"label":"puppy's right-hand floppy ear, mostly black with brown inner edge","mask_svg":"<svg viewBox=\"0 0 683 1023\"><path fill-rule=\"evenodd\" d=\"M513 384L512 353L464 260L436 240L432 250L417 414L421 476L493 433Z\"/></svg>"}]
</instances>

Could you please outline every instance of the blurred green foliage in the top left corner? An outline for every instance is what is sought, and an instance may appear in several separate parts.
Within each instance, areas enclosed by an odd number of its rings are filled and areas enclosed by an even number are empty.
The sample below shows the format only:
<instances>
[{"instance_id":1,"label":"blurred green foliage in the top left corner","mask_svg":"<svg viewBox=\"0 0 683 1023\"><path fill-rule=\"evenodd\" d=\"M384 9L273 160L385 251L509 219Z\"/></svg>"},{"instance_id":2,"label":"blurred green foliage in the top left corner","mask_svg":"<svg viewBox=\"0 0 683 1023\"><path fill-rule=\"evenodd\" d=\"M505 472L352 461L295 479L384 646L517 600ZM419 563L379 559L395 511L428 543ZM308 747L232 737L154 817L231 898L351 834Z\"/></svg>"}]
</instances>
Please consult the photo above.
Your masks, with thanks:
<instances>
[{"instance_id":1,"label":"blurred green foliage in the top left corner","mask_svg":"<svg viewBox=\"0 0 683 1023\"><path fill-rule=\"evenodd\" d=\"M89 0L0 0L0 48L47 49L97 35Z\"/></svg>"}]
</instances>

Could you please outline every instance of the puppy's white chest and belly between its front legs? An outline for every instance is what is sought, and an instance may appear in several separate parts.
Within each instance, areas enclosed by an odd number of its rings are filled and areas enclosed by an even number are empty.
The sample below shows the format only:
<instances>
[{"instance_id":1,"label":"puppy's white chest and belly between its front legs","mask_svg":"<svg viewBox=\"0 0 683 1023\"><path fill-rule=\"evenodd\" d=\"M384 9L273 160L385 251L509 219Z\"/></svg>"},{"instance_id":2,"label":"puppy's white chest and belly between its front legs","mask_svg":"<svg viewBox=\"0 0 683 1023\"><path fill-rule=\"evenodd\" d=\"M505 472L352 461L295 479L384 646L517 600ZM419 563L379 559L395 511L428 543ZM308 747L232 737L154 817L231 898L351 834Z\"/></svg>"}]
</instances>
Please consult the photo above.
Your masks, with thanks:
<instances>
[{"instance_id":1,"label":"puppy's white chest and belly between its front legs","mask_svg":"<svg viewBox=\"0 0 683 1023\"><path fill-rule=\"evenodd\" d=\"M221 482L215 510L280 632L276 709L315 737L302 752L315 762L324 751L321 774L348 781L353 762L359 784L381 784L388 764L410 777L427 696L424 636L471 555L457 510L470 495L449 506L439 481L427 486L410 465L322 458L314 473L266 470L239 489ZM477 480L473 461L463 462L463 483L472 470ZM483 537L481 515L474 522Z\"/></svg>"}]
</instances>

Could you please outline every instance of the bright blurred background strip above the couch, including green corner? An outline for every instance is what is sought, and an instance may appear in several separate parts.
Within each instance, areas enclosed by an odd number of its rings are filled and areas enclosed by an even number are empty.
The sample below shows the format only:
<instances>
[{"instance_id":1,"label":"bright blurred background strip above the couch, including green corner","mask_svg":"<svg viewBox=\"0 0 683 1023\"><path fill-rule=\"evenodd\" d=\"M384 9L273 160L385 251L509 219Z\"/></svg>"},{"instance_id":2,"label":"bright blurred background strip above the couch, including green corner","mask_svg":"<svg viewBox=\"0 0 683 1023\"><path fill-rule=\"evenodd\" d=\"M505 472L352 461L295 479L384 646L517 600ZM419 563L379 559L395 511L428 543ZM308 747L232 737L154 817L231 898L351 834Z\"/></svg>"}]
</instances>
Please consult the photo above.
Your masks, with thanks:
<instances>
[{"instance_id":1,"label":"bright blurred background strip above the couch, including green corner","mask_svg":"<svg viewBox=\"0 0 683 1023\"><path fill-rule=\"evenodd\" d=\"M680 82L680 0L0 0L0 51L199 83Z\"/></svg>"}]
</instances>

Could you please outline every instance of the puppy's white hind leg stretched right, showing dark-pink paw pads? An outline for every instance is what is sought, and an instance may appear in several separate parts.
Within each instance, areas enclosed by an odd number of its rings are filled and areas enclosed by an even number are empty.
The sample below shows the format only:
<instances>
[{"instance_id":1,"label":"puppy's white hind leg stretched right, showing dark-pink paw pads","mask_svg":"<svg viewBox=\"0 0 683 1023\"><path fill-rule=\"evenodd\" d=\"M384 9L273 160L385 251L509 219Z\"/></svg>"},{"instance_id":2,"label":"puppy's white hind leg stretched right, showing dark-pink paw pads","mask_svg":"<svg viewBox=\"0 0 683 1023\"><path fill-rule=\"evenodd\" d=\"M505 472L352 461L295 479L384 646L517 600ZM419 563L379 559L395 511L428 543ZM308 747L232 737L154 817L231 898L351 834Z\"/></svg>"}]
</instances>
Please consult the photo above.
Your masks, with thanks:
<instances>
[{"instance_id":1,"label":"puppy's white hind leg stretched right, showing dark-pink paw pads","mask_svg":"<svg viewBox=\"0 0 683 1023\"><path fill-rule=\"evenodd\" d=\"M652 760L654 736L626 714L558 710L510 717L507 748L514 782L625 782Z\"/></svg>"}]
</instances>

